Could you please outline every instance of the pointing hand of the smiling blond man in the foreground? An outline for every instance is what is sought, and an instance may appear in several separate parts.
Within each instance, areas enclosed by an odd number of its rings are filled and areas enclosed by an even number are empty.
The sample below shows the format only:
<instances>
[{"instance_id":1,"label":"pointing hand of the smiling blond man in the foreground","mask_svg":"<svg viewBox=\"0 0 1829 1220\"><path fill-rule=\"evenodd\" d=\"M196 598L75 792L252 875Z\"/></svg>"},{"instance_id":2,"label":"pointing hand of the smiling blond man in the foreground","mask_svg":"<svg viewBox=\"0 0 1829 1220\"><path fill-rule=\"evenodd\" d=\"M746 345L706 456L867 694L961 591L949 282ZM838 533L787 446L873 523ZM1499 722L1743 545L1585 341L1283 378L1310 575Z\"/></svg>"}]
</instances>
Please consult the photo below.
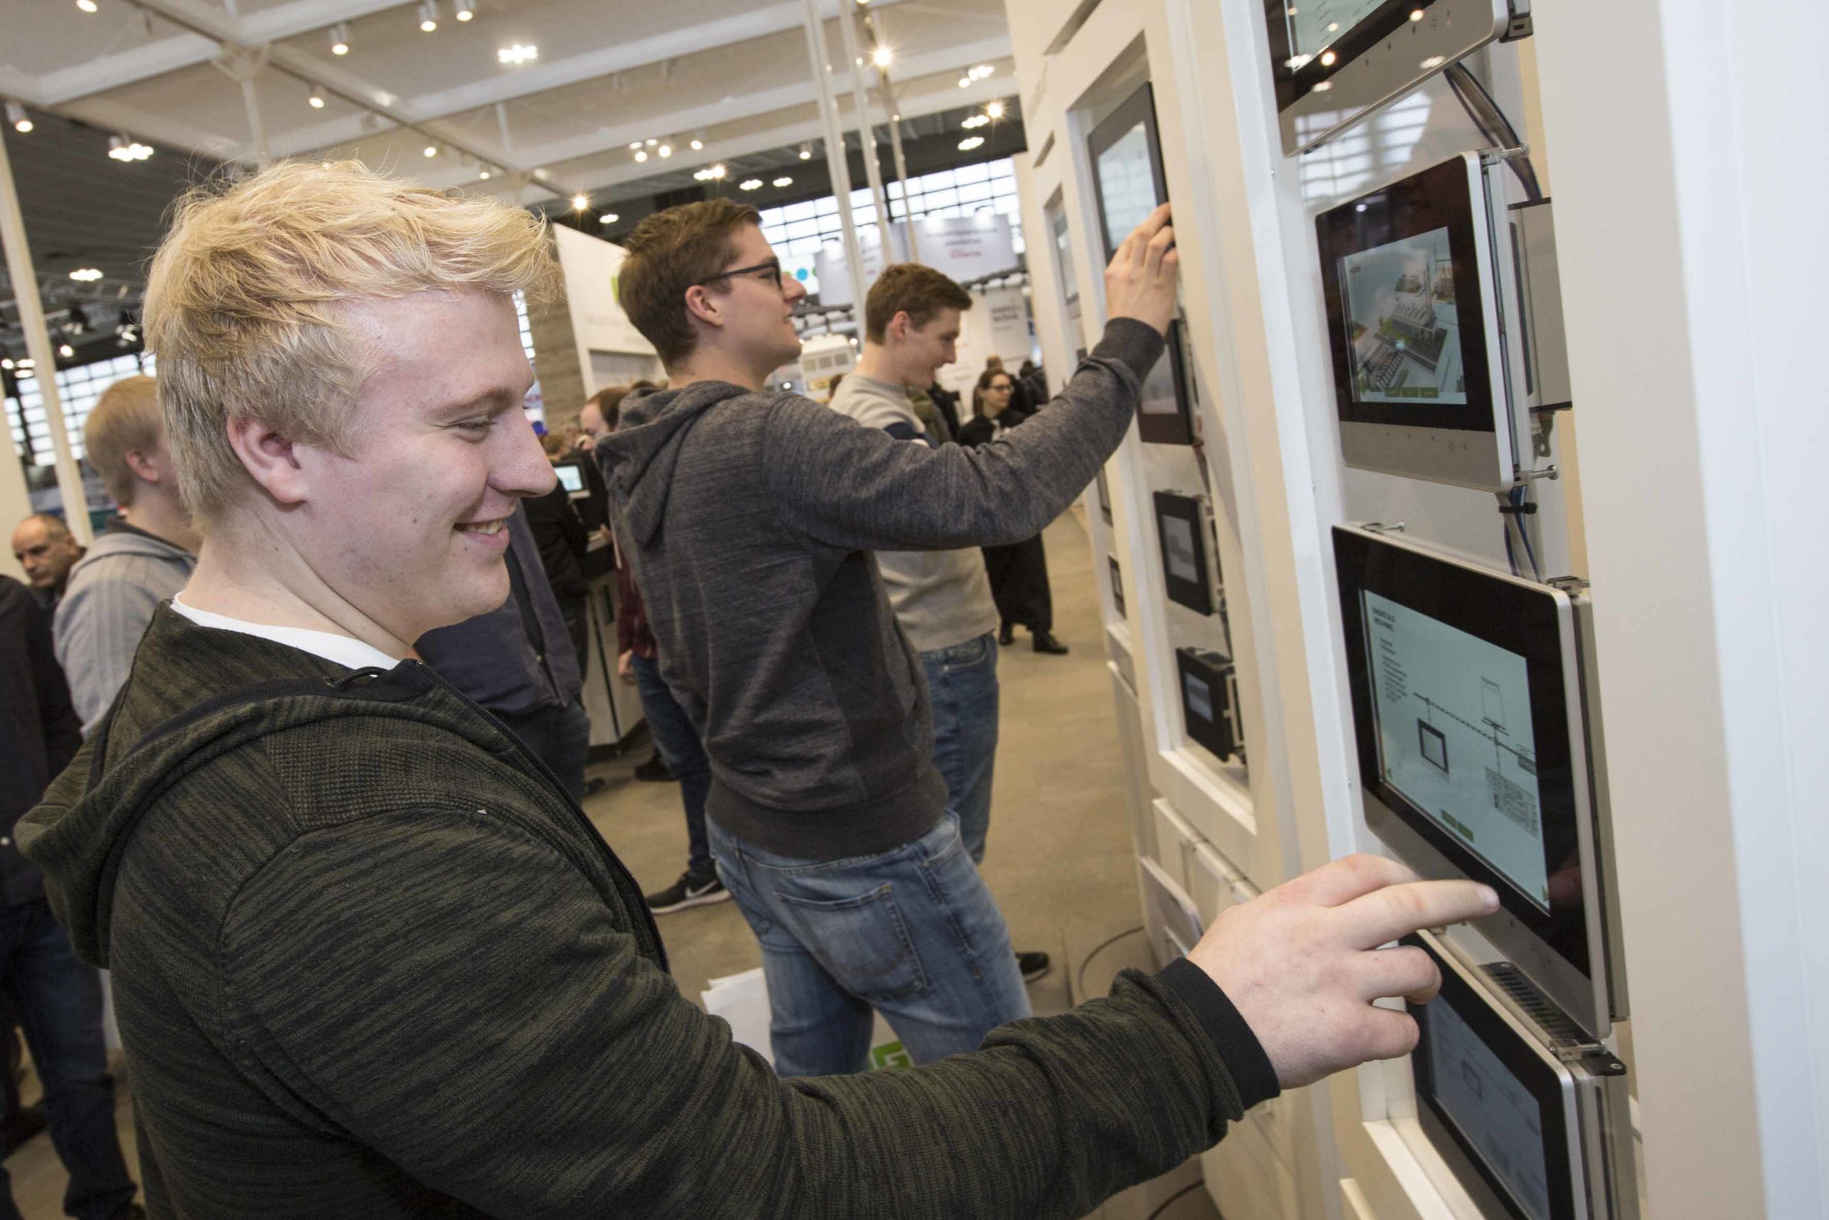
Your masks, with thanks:
<instances>
[{"instance_id":1,"label":"pointing hand of the smiling blond man in the foreground","mask_svg":"<svg viewBox=\"0 0 1829 1220\"><path fill-rule=\"evenodd\" d=\"M1225 991L1284 1088L1416 1050L1416 1021L1375 1008L1423 1004L1441 971L1423 949L1379 946L1421 927L1492 915L1474 882L1419 882L1383 856L1348 856L1220 915L1189 960Z\"/></svg>"}]
</instances>

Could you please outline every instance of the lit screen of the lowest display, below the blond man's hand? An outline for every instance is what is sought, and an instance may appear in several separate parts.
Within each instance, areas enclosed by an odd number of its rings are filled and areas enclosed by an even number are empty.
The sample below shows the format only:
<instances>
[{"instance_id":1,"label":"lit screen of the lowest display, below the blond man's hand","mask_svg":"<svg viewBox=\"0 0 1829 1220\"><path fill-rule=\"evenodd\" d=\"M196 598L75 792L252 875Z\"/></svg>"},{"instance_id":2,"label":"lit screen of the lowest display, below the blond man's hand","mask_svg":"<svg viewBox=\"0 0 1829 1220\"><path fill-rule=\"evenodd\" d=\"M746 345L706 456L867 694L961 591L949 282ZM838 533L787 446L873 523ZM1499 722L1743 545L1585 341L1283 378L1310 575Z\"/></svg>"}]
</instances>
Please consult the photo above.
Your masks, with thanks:
<instances>
[{"instance_id":1,"label":"lit screen of the lowest display, below the blond man's hand","mask_svg":"<svg viewBox=\"0 0 1829 1220\"><path fill-rule=\"evenodd\" d=\"M1524 1215L1553 1220L1542 1103L1447 999L1428 1004L1427 1041L1436 1108Z\"/></svg>"}]
</instances>

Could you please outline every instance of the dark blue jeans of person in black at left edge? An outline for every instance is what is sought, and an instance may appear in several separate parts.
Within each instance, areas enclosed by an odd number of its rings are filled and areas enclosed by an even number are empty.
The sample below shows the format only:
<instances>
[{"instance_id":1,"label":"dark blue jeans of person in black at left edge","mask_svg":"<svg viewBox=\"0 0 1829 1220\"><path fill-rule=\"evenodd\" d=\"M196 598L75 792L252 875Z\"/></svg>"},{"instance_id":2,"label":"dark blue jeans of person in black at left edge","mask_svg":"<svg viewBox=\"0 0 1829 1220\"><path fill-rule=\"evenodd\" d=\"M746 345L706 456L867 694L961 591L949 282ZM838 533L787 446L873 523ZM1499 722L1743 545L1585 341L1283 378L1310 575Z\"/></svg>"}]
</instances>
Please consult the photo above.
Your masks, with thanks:
<instances>
[{"instance_id":1,"label":"dark blue jeans of person in black at left edge","mask_svg":"<svg viewBox=\"0 0 1829 1220\"><path fill-rule=\"evenodd\" d=\"M134 1180L113 1123L102 980L77 960L42 898L0 905L0 988L26 1030L44 1081L51 1145L70 1171L64 1213L106 1220L134 1200ZM5 1169L0 1169L0 1220L18 1220Z\"/></svg>"}]
</instances>

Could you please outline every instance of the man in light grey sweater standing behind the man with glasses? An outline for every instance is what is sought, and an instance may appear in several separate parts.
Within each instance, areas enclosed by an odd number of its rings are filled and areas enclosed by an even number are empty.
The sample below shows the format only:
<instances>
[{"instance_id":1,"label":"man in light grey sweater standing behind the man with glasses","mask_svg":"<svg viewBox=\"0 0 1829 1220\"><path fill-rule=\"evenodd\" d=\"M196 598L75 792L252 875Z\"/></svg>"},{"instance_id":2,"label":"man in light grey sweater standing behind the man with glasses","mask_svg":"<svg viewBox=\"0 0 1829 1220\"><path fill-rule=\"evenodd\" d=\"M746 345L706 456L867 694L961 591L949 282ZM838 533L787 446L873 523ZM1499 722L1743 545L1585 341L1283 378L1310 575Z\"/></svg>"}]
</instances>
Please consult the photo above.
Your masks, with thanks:
<instances>
[{"instance_id":1,"label":"man in light grey sweater standing behind the man with glasses","mask_svg":"<svg viewBox=\"0 0 1829 1220\"><path fill-rule=\"evenodd\" d=\"M863 305L863 355L832 391L830 408L898 441L938 444L909 386L933 384L951 364L971 293L920 263L885 267ZM940 424L944 428L944 423ZM946 779L947 810L973 863L984 863L997 765L997 602L984 554L878 551L889 605L920 653L933 708L933 765ZM1017 953L1022 980L1048 973L1046 953Z\"/></svg>"}]
</instances>

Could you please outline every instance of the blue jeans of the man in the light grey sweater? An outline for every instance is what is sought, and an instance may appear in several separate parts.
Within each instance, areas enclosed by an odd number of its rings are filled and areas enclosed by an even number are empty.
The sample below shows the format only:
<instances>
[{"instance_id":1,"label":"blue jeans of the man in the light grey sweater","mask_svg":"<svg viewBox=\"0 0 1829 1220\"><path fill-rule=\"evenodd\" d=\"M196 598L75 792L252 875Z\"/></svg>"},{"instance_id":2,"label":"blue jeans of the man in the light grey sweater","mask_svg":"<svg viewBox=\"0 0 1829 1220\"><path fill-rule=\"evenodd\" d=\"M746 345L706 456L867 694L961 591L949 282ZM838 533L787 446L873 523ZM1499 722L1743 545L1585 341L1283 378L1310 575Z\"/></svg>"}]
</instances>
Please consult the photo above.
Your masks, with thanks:
<instances>
[{"instance_id":1,"label":"blue jeans of the man in the light grey sweater","mask_svg":"<svg viewBox=\"0 0 1829 1220\"><path fill-rule=\"evenodd\" d=\"M973 863L984 861L997 765L997 637L920 655L933 702L933 765L946 779L947 810Z\"/></svg>"}]
</instances>

